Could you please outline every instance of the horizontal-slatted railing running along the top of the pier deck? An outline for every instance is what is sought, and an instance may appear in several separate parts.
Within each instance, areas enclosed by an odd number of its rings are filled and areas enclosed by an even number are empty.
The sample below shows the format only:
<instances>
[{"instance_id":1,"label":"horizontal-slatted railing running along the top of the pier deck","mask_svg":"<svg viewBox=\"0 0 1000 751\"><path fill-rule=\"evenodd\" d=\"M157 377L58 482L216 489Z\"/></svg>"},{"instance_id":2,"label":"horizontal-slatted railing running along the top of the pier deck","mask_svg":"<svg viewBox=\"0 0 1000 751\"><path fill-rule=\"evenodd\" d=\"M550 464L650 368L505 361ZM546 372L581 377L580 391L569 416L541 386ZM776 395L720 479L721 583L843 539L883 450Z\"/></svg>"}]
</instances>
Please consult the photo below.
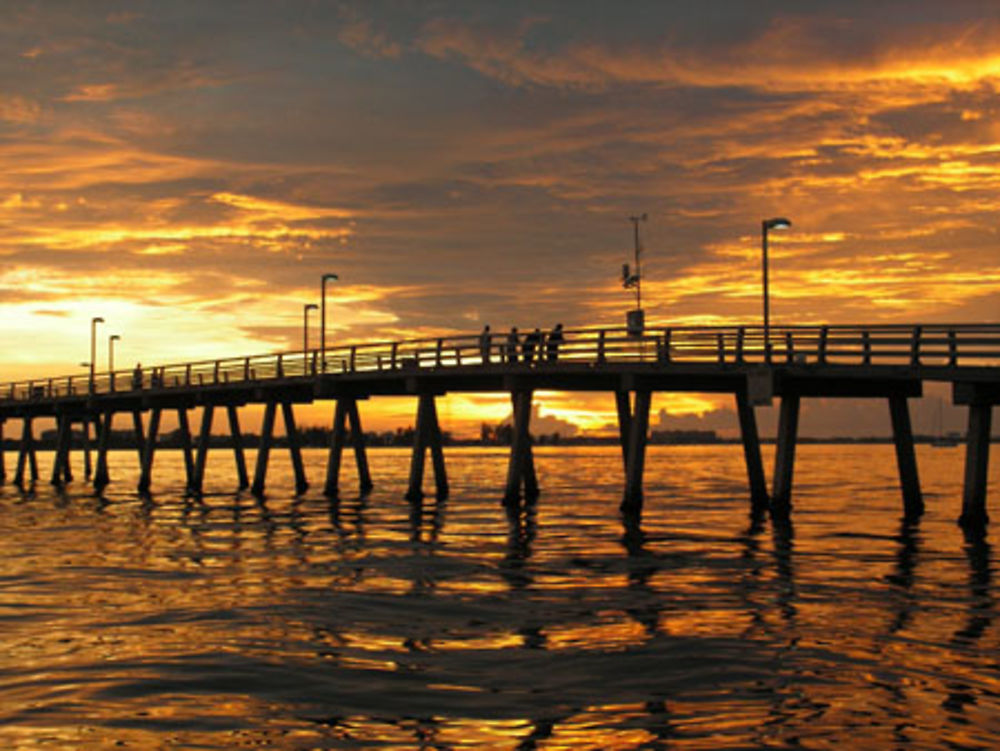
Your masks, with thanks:
<instances>
[{"instance_id":1,"label":"horizontal-slatted railing running along the top of the pier deck","mask_svg":"<svg viewBox=\"0 0 1000 751\"><path fill-rule=\"evenodd\" d=\"M622 328L567 329L562 338L544 332L515 343L507 332L488 341L481 334L411 339L202 360L100 373L16 381L0 385L0 400L28 401L138 389L189 388L322 375L441 368L545 368L567 363L716 363L784 367L815 365L926 368L998 368L1000 324L881 326L772 326L765 341L756 326L672 326L633 334Z\"/></svg>"}]
</instances>

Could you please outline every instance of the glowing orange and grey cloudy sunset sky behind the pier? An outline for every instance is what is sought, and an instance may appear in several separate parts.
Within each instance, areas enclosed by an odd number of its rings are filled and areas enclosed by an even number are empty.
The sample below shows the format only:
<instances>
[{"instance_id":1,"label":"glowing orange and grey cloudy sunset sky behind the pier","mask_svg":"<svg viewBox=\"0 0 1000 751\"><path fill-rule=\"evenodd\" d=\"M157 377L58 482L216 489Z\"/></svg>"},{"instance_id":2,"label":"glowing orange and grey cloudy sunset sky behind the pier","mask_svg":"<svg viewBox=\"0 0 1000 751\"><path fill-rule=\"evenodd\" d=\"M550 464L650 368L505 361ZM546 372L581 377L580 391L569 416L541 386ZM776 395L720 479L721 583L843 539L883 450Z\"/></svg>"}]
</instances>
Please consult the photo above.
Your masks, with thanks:
<instances>
[{"instance_id":1,"label":"glowing orange and grey cloudy sunset sky behind the pier","mask_svg":"<svg viewBox=\"0 0 1000 751\"><path fill-rule=\"evenodd\" d=\"M621 325L641 212L654 325L759 323L774 215L775 323L1000 320L996 0L3 7L4 381L296 348L324 272L331 341Z\"/></svg>"}]
</instances>

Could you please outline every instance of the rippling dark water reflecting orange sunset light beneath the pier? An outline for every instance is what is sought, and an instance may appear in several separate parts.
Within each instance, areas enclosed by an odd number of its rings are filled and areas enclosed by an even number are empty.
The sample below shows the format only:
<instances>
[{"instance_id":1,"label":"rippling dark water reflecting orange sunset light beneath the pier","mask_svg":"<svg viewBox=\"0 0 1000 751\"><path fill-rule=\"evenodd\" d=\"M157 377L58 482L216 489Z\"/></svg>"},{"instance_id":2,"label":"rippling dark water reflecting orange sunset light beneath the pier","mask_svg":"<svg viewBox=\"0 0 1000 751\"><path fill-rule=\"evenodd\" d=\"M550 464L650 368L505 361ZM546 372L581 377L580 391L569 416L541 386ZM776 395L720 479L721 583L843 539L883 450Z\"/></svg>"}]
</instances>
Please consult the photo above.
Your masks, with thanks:
<instances>
[{"instance_id":1,"label":"rippling dark water reflecting orange sunset light beneath the pier","mask_svg":"<svg viewBox=\"0 0 1000 751\"><path fill-rule=\"evenodd\" d=\"M264 502L224 451L201 502L176 452L147 500L132 452L103 499L4 487L0 747L1000 746L1000 461L966 539L958 448L918 449L913 526L889 446L802 447L787 526L736 446L652 447L638 528L617 449L538 450L514 519L505 452L447 456L422 509L402 450L335 504L281 451Z\"/></svg>"}]
</instances>

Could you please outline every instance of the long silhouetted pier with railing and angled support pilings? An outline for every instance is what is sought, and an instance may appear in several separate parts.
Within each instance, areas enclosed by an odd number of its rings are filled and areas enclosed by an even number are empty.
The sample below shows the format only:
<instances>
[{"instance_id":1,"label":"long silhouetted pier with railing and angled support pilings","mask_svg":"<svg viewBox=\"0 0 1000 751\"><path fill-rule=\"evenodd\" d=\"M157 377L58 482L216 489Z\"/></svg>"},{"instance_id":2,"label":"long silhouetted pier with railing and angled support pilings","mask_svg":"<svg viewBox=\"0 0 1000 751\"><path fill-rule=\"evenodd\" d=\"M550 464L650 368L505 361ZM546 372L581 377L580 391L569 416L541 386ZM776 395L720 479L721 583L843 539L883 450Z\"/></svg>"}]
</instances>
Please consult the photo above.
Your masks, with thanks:
<instances>
[{"instance_id":1,"label":"long silhouetted pier with railing and angled support pilings","mask_svg":"<svg viewBox=\"0 0 1000 751\"><path fill-rule=\"evenodd\" d=\"M359 402L379 396L416 398L416 426L408 497L423 495L426 455L431 455L435 493L448 494L448 478L436 398L449 392L506 392L513 407L513 435L504 502L531 502L539 494L530 433L532 394L539 389L610 392L614 395L622 448L621 508L641 511L649 408L655 391L732 394L739 417L749 497L755 509L786 517L791 510L799 407L803 398L868 398L887 403L907 517L923 511L908 399L925 381L952 385L953 402L968 409L960 522L982 526L986 511L991 410L1000 402L1000 325L689 327L561 331L558 340L534 342L532 351L509 337L469 334L381 342L242 358L164 365L144 372L65 376L0 385L0 430L21 421L13 481L38 480L32 421L54 418L57 445L51 481L72 480L73 426L97 441L93 483L110 482L108 440L116 414L131 414L138 444L139 491L148 492L161 416L175 411L189 492L202 489L216 409L224 409L239 487L264 493L278 410L295 473L296 491L308 488L294 405L333 400L324 491L339 491L343 452L353 448L360 491L373 487ZM768 490L755 406L779 401L778 436ZM251 482L243 455L239 407L264 406L260 444ZM197 435L189 413L200 409ZM145 419L148 416L148 423ZM348 431L348 426L350 430ZM0 435L2 439L2 435ZM90 453L85 452L89 478ZM0 481L6 468L0 462Z\"/></svg>"}]
</instances>

